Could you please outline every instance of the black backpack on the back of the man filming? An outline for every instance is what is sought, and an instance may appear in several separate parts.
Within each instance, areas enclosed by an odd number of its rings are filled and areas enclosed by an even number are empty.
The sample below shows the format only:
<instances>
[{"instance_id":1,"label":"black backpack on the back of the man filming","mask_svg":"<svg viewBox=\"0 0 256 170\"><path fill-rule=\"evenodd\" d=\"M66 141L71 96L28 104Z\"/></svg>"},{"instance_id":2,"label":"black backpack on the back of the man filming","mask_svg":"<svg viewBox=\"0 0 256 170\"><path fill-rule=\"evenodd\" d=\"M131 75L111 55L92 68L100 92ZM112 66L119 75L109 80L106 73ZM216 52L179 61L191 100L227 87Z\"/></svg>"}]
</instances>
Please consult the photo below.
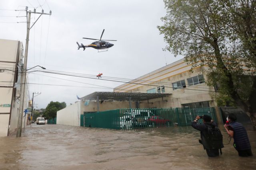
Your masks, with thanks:
<instances>
[{"instance_id":1,"label":"black backpack on the back of the man filming","mask_svg":"<svg viewBox=\"0 0 256 170\"><path fill-rule=\"evenodd\" d=\"M223 145L223 137L218 127L208 127L207 139L209 147L212 149L221 149Z\"/></svg>"}]
</instances>

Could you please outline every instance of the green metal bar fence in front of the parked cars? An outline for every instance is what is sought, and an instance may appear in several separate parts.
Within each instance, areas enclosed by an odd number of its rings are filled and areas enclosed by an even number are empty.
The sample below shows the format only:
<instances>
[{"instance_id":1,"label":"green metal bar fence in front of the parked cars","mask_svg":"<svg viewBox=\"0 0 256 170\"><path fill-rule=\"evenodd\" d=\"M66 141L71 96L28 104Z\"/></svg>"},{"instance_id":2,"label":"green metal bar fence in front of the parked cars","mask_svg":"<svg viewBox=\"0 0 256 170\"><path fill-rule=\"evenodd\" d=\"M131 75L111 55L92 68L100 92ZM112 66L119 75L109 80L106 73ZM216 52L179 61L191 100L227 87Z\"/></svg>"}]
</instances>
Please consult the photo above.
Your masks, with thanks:
<instances>
[{"instance_id":1,"label":"green metal bar fence in front of the parked cars","mask_svg":"<svg viewBox=\"0 0 256 170\"><path fill-rule=\"evenodd\" d=\"M196 115L209 115L216 120L214 107L115 109L81 115L81 126L108 129L138 129L160 126L187 126ZM82 120L84 120L82 122ZM202 120L199 120L202 123Z\"/></svg>"}]
</instances>

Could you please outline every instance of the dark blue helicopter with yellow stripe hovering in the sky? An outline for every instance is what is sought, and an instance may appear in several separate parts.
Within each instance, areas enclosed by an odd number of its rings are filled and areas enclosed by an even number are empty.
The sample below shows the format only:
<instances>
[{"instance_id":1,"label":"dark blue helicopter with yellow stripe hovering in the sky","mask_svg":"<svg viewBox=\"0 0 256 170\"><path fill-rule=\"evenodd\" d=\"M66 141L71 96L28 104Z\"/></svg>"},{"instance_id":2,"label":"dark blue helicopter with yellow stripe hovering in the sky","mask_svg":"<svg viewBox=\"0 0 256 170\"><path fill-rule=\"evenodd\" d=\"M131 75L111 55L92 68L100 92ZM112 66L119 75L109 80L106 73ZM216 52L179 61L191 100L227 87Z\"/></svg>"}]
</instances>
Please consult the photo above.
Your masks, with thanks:
<instances>
[{"instance_id":1,"label":"dark blue helicopter with yellow stripe hovering in the sky","mask_svg":"<svg viewBox=\"0 0 256 170\"><path fill-rule=\"evenodd\" d=\"M79 45L79 43L76 42L77 45L78 45L78 50L80 48L83 48L85 50L85 48L87 48L87 47L92 47L94 49L97 49L98 52L103 52L105 49L106 49L105 51L108 51L108 48L112 47L114 44L111 44L107 41L117 41L117 40L103 40L103 39L101 39L104 31L105 31L105 29L103 29L102 34L100 36L100 39L93 39L93 40L99 40L99 41L95 41L95 42L91 43L90 45L83 45L82 43L81 43L81 45ZM84 39L92 39L92 38L84 38ZM103 50L103 51L99 51L99 50Z\"/></svg>"}]
</instances>

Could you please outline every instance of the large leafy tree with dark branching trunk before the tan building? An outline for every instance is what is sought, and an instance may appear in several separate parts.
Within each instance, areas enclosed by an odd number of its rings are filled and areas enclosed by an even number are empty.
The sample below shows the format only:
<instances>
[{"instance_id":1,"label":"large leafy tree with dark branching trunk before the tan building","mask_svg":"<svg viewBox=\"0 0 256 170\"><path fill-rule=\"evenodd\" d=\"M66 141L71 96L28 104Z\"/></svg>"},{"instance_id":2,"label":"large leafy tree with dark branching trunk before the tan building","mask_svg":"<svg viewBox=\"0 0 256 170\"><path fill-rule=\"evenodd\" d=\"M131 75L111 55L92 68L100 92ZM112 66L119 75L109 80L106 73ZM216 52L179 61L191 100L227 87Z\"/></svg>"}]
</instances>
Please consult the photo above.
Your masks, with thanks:
<instances>
[{"instance_id":1,"label":"large leafy tree with dark branching trunk before the tan building","mask_svg":"<svg viewBox=\"0 0 256 170\"><path fill-rule=\"evenodd\" d=\"M235 2L164 0L167 14L161 18L164 25L158 29L168 44L165 50L174 55L184 55L185 61L192 63L192 68L208 66L202 71L207 74L208 85L218 86L218 93L213 94L218 106L240 106L250 112L255 125L255 111L250 109L249 102L250 96L255 96L255 71L252 71L256 68L256 60L252 56L255 39L247 41L245 36L248 34L246 29L254 23L244 21L243 26L232 30L240 24L235 9L239 8L239 12L248 10ZM252 4L255 5L254 2ZM255 18L253 9L249 14ZM252 35L255 36L255 31ZM244 70L244 65L252 70Z\"/></svg>"}]
</instances>

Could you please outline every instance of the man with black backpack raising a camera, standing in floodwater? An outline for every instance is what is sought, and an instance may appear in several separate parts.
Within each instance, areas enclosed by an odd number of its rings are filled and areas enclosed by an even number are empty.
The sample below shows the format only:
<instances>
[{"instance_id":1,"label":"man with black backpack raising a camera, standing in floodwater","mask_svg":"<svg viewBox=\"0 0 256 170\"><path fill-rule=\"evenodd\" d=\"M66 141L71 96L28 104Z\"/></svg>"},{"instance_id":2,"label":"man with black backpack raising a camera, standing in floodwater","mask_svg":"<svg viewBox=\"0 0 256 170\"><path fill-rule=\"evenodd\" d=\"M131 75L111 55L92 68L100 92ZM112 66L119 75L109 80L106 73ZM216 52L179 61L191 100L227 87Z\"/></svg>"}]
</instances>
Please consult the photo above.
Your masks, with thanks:
<instances>
[{"instance_id":1,"label":"man with black backpack raising a camera, standing in floodwater","mask_svg":"<svg viewBox=\"0 0 256 170\"><path fill-rule=\"evenodd\" d=\"M198 124L198 120L201 118L203 119L203 123ZM199 140L199 143L204 146L209 157L215 157L222 154L221 149L224 147L223 137L217 123L212 121L210 116L196 116L196 119L192 121L192 127L200 131L201 140Z\"/></svg>"}]
</instances>

